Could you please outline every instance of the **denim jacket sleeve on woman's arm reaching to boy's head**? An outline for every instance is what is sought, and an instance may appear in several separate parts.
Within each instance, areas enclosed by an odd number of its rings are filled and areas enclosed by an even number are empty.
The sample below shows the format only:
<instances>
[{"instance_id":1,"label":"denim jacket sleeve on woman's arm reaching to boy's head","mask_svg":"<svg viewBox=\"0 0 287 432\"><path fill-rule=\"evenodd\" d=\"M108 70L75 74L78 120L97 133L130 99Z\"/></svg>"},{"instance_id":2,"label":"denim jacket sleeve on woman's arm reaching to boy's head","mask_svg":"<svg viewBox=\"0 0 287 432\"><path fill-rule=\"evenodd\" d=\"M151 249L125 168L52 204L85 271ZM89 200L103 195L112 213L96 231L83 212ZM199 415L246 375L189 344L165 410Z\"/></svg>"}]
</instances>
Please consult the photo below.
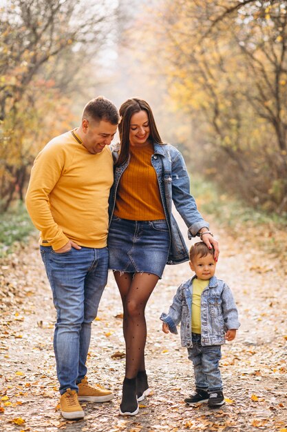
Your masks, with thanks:
<instances>
[{"instance_id":1,"label":"denim jacket sleeve on woman's arm reaching to boy's head","mask_svg":"<svg viewBox=\"0 0 287 432\"><path fill-rule=\"evenodd\" d=\"M198 211L195 199L190 193L190 179L187 173L182 154L178 151L176 157L171 164L172 175L172 198L176 206L176 210L189 228L189 239L195 237L200 228L206 226L209 228L209 223L204 221L202 215Z\"/></svg>"}]
</instances>

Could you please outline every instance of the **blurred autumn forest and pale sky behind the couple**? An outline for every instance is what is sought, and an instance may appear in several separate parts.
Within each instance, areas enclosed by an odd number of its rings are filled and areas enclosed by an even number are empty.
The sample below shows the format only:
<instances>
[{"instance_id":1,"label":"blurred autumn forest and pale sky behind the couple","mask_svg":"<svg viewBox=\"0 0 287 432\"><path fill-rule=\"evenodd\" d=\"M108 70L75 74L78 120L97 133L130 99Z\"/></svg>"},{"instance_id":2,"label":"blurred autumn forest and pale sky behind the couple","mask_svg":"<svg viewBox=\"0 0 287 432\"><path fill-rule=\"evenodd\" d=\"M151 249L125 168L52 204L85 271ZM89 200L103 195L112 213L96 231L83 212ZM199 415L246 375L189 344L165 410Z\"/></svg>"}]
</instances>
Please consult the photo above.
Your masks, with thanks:
<instances>
[{"instance_id":1,"label":"blurred autumn forest and pale sky behind the couple","mask_svg":"<svg viewBox=\"0 0 287 432\"><path fill-rule=\"evenodd\" d=\"M287 214L287 1L0 0L0 208L104 95L146 99L192 173Z\"/></svg>"}]
</instances>

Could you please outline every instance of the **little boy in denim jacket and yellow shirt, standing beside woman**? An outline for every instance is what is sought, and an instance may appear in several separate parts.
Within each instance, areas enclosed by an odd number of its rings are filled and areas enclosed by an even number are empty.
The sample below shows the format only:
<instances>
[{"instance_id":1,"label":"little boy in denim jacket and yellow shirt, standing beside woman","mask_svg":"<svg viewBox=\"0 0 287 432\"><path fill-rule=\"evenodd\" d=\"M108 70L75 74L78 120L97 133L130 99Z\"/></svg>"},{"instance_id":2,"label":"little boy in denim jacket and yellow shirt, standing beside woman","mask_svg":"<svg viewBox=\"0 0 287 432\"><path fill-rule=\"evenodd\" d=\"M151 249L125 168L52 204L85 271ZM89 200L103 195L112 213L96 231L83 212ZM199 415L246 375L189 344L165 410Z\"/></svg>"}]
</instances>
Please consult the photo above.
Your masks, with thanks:
<instances>
[{"instance_id":1,"label":"little boy in denim jacket and yellow shirt, standing beside woman","mask_svg":"<svg viewBox=\"0 0 287 432\"><path fill-rule=\"evenodd\" d=\"M160 320L164 333L177 334L181 322L182 346L187 346L193 362L195 391L184 402L208 402L216 408L224 404L221 345L235 338L240 322L230 288L214 275L213 254L203 242L191 246L189 266L195 275L178 287L169 313L162 313Z\"/></svg>"}]
</instances>

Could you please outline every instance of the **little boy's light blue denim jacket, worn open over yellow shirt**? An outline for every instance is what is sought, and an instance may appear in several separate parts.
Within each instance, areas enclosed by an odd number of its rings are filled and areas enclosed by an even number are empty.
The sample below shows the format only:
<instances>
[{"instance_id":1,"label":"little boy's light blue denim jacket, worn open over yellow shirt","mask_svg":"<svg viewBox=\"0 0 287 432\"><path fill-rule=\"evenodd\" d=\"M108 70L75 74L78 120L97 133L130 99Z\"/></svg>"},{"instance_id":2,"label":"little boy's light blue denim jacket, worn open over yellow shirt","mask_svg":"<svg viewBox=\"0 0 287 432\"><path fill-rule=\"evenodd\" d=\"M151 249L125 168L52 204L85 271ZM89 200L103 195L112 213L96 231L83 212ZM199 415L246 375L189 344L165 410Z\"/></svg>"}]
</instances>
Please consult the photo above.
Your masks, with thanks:
<instances>
[{"instance_id":1,"label":"little boy's light blue denim jacket, worn open over yellow shirt","mask_svg":"<svg viewBox=\"0 0 287 432\"><path fill-rule=\"evenodd\" d=\"M191 338L191 279L178 287L169 313L162 313L160 320L167 323L171 333L178 334L176 326L180 323L180 336L182 346L192 347ZM231 293L226 283L213 276L209 285L204 288L201 295L201 343L202 345L222 345L225 343L225 331L239 328L238 313Z\"/></svg>"}]
</instances>

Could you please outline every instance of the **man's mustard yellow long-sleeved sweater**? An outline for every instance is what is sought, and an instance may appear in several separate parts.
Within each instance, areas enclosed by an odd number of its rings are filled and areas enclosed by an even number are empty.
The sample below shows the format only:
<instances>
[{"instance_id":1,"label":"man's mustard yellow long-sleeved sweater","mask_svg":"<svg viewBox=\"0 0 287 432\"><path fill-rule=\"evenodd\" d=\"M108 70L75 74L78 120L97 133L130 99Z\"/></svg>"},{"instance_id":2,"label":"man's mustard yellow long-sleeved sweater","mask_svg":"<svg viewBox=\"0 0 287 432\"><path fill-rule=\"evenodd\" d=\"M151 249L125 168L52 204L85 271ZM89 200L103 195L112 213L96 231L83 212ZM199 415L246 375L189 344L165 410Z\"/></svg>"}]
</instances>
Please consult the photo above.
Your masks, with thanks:
<instances>
[{"instance_id":1,"label":"man's mustard yellow long-sleeved sweater","mask_svg":"<svg viewBox=\"0 0 287 432\"><path fill-rule=\"evenodd\" d=\"M107 246L108 198L113 159L107 146L92 155L66 132L52 139L34 161L26 205L40 230L40 244L54 250L72 240Z\"/></svg>"}]
</instances>

